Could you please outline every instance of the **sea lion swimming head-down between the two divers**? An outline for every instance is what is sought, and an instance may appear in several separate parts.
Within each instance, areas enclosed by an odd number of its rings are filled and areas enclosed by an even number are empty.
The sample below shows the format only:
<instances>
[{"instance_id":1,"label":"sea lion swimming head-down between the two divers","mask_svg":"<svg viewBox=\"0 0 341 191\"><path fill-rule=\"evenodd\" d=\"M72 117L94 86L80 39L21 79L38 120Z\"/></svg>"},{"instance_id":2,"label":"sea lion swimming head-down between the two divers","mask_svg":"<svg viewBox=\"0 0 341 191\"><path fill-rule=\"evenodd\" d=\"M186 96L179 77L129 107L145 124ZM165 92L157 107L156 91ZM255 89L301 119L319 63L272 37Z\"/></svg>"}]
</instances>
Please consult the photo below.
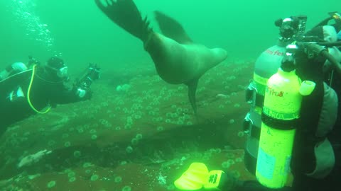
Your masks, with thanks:
<instances>
[{"instance_id":1,"label":"sea lion swimming head-down between the two divers","mask_svg":"<svg viewBox=\"0 0 341 191\"><path fill-rule=\"evenodd\" d=\"M196 115L197 81L207 70L224 61L227 52L194 43L180 23L159 11L154 13L163 34L154 32L149 27L147 17L141 17L133 0L95 2L114 23L144 42L144 49L153 59L161 79L167 83L184 83L188 86L188 98Z\"/></svg>"}]
</instances>

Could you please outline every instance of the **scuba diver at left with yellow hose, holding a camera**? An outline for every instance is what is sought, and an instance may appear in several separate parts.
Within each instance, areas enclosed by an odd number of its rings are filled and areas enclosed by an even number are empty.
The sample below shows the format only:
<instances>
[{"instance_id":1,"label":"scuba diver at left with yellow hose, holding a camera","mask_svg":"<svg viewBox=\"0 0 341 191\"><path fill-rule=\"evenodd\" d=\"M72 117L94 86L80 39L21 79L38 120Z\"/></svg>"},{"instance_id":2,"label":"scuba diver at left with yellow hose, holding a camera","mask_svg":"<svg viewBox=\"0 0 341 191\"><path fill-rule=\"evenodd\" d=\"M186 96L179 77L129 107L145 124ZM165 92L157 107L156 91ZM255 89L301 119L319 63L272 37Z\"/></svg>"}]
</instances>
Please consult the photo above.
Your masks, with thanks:
<instances>
[{"instance_id":1,"label":"scuba diver at left with yellow hose, holding a camera","mask_svg":"<svg viewBox=\"0 0 341 191\"><path fill-rule=\"evenodd\" d=\"M73 84L67 65L59 57L50 57L46 64L29 57L28 66L16 62L0 74L1 136L7 127L35 113L46 113L57 104L90 99L90 85L99 79L99 67L90 64Z\"/></svg>"}]
</instances>

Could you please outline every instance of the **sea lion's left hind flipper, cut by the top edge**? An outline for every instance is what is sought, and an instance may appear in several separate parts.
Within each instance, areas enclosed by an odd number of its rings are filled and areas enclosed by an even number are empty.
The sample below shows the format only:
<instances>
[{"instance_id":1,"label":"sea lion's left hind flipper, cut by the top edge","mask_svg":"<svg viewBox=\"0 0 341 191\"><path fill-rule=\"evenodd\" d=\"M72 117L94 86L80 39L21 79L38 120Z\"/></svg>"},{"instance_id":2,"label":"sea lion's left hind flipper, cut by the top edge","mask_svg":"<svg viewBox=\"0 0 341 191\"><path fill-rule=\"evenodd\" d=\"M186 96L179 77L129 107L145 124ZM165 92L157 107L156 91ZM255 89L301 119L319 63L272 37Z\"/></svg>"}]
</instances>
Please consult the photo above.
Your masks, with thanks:
<instances>
[{"instance_id":1,"label":"sea lion's left hind flipper, cut by the top edge","mask_svg":"<svg viewBox=\"0 0 341 191\"><path fill-rule=\"evenodd\" d=\"M114 23L126 30L131 35L138 37L143 42L153 30L149 28L147 18L142 18L139 9L132 0L94 0L101 9Z\"/></svg>"}]
</instances>

